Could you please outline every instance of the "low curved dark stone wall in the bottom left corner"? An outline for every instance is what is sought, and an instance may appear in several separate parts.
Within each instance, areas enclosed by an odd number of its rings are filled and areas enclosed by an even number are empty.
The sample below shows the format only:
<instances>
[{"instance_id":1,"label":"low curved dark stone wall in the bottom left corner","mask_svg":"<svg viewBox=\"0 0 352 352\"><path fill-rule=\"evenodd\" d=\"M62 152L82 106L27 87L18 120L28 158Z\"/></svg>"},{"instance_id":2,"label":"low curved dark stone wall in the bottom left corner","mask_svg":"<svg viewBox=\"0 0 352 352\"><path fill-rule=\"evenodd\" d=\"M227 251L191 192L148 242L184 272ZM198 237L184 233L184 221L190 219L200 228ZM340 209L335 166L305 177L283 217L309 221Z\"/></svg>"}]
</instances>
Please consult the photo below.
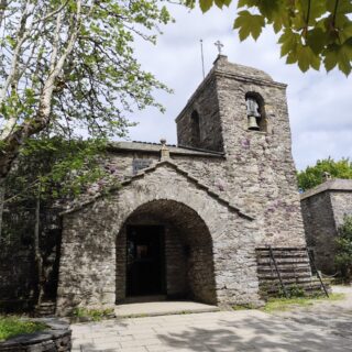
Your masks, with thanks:
<instances>
[{"instance_id":1,"label":"low curved dark stone wall in the bottom left corner","mask_svg":"<svg viewBox=\"0 0 352 352\"><path fill-rule=\"evenodd\" d=\"M66 352L72 348L72 330L65 321L55 318L37 319L50 328L44 331L21 334L0 342L1 352Z\"/></svg>"}]
</instances>

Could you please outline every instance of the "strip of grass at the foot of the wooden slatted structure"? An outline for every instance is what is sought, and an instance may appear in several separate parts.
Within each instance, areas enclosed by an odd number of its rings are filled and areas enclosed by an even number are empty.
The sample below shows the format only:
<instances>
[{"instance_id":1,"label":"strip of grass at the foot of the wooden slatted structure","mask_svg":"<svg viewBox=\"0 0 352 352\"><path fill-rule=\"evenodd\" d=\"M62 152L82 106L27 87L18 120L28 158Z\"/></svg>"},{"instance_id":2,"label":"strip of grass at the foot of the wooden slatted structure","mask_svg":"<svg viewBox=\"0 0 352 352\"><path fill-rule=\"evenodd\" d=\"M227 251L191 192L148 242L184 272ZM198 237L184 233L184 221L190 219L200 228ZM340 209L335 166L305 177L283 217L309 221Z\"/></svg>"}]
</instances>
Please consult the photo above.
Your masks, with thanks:
<instances>
[{"instance_id":1,"label":"strip of grass at the foot of the wooden slatted structure","mask_svg":"<svg viewBox=\"0 0 352 352\"><path fill-rule=\"evenodd\" d=\"M290 310L296 307L308 307L312 306L319 301L334 301L341 300L345 297L344 294L330 294L329 298L321 296L321 297L295 297L295 298L273 298L270 299L266 305L262 308L265 312L273 312L273 311L285 311Z\"/></svg>"}]
</instances>

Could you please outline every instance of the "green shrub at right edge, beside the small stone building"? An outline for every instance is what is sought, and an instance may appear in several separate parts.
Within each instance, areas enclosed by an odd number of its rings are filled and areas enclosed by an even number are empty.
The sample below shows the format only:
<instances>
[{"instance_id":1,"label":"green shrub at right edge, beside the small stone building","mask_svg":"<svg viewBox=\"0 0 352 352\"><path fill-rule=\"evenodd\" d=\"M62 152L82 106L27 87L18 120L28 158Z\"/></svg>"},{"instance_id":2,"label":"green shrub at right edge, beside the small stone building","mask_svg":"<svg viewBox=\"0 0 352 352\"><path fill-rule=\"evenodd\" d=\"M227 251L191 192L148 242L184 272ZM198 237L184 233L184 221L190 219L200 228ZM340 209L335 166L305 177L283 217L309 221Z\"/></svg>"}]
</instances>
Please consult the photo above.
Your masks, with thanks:
<instances>
[{"instance_id":1,"label":"green shrub at right edge, beside the small stone building","mask_svg":"<svg viewBox=\"0 0 352 352\"><path fill-rule=\"evenodd\" d=\"M337 254L334 261L337 267L340 270L342 278L350 282L352 276L352 217L344 217L336 242Z\"/></svg>"}]
</instances>

